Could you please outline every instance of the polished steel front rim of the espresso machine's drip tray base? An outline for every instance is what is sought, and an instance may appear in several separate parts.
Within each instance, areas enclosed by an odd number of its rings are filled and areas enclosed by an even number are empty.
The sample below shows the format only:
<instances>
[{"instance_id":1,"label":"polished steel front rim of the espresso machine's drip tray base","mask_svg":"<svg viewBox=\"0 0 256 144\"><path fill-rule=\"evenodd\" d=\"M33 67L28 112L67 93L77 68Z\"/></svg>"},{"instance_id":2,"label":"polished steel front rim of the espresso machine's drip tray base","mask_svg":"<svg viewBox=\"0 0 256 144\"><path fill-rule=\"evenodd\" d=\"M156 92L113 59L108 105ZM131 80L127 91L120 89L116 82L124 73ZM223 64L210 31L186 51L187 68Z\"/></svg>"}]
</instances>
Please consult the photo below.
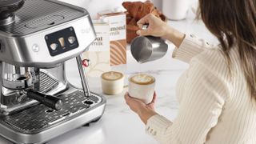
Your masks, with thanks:
<instances>
[{"instance_id":1,"label":"polished steel front rim of the espresso machine's drip tray base","mask_svg":"<svg viewBox=\"0 0 256 144\"><path fill-rule=\"evenodd\" d=\"M94 94L92 95L97 97L97 95L94 95ZM82 98L86 98L86 97L82 95ZM99 98L102 98L102 97L99 97ZM49 123L47 126L49 125L51 126L49 126L45 130L41 129L42 131L39 130L35 132L36 128L39 128L41 125L39 125L38 127L34 127L35 128L34 131L33 131L33 128L30 127L32 128L32 130L30 131L31 134L26 134L24 133L24 131L16 131L15 130L16 128L6 126L6 122L2 121L0 124L0 131L2 133L0 133L0 135L16 143L48 142L51 138L55 138L58 135L64 134L70 130L74 130L78 126L82 126L86 123L89 123L98 118L101 118L102 113L105 110L105 106L106 106L106 99L102 98L102 102L98 103L98 105L90 106L89 108L85 108L81 111L78 111L78 113L70 114L66 117L62 117L61 119L58 119L60 117L57 114L58 118L54 119L55 121L50 121L50 122L48 121ZM64 111L60 112L60 114L63 115ZM56 114L56 113L53 113L53 114ZM55 118L53 114L48 115L48 118L50 116L52 116L52 118Z\"/></svg>"}]
</instances>

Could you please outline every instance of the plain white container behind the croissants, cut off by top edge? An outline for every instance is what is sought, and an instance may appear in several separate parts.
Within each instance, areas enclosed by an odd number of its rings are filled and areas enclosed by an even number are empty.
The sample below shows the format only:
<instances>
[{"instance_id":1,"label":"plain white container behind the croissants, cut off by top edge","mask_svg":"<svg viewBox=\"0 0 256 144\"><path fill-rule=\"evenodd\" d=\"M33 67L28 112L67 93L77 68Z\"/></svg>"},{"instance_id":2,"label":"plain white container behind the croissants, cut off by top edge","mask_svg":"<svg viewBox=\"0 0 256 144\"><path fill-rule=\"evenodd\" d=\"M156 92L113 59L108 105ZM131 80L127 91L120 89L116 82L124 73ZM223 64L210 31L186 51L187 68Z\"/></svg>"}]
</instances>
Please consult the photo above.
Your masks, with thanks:
<instances>
[{"instance_id":1,"label":"plain white container behind the croissants, cut off by top edge","mask_svg":"<svg viewBox=\"0 0 256 144\"><path fill-rule=\"evenodd\" d=\"M162 12L171 20L182 20L186 18L189 2L189 0L163 0Z\"/></svg>"}]
</instances>

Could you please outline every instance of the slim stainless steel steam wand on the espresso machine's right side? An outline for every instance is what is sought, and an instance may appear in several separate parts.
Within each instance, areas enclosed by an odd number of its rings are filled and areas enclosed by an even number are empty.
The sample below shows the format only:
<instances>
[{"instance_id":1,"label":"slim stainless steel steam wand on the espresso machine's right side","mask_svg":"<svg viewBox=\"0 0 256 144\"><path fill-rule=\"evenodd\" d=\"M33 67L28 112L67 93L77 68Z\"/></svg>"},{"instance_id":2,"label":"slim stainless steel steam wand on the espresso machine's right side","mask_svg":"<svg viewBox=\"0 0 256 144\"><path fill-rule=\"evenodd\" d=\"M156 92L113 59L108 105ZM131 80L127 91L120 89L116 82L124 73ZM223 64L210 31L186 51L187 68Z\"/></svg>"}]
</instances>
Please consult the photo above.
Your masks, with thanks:
<instances>
[{"instance_id":1,"label":"slim stainless steel steam wand on the espresso machine's right side","mask_svg":"<svg viewBox=\"0 0 256 144\"><path fill-rule=\"evenodd\" d=\"M90 97L90 89L89 89L89 85L88 85L87 78L86 78L86 70L84 70L83 65L82 65L82 56L79 55L76 59L77 59L77 63L78 63L78 70L79 70L84 94L86 97Z\"/></svg>"}]
</instances>

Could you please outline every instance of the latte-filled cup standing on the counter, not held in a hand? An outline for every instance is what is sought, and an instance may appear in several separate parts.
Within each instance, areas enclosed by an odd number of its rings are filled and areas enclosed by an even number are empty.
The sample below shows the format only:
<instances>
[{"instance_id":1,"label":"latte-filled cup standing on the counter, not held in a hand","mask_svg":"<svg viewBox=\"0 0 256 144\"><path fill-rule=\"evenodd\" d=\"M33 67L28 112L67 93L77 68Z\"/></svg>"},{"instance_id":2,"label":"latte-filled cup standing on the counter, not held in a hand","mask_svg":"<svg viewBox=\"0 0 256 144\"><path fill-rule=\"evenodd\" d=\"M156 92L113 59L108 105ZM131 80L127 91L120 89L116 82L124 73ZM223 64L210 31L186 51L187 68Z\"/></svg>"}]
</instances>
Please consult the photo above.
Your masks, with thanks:
<instances>
[{"instance_id":1,"label":"latte-filled cup standing on the counter, not held in a hand","mask_svg":"<svg viewBox=\"0 0 256 144\"><path fill-rule=\"evenodd\" d=\"M102 74L102 92L104 94L121 94L124 86L124 75L117 71Z\"/></svg>"}]
</instances>

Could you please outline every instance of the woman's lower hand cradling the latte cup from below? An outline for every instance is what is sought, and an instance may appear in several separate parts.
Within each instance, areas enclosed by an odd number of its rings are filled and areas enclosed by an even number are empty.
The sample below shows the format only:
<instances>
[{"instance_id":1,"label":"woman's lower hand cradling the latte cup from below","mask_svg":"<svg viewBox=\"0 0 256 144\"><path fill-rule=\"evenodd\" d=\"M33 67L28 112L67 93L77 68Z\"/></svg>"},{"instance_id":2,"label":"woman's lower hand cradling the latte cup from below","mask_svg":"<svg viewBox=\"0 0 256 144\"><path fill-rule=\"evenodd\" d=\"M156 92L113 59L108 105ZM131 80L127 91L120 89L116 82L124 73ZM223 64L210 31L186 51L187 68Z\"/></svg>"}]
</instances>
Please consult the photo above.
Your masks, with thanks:
<instances>
[{"instance_id":1,"label":"woman's lower hand cradling the latte cup from below","mask_svg":"<svg viewBox=\"0 0 256 144\"><path fill-rule=\"evenodd\" d=\"M142 122L146 124L147 120L153 115L157 114L154 111L154 103L157 95L154 93L152 102L145 104L138 98L132 98L128 93L125 95L126 104L130 106L130 109L133 110L138 116L142 119Z\"/></svg>"}]
</instances>

